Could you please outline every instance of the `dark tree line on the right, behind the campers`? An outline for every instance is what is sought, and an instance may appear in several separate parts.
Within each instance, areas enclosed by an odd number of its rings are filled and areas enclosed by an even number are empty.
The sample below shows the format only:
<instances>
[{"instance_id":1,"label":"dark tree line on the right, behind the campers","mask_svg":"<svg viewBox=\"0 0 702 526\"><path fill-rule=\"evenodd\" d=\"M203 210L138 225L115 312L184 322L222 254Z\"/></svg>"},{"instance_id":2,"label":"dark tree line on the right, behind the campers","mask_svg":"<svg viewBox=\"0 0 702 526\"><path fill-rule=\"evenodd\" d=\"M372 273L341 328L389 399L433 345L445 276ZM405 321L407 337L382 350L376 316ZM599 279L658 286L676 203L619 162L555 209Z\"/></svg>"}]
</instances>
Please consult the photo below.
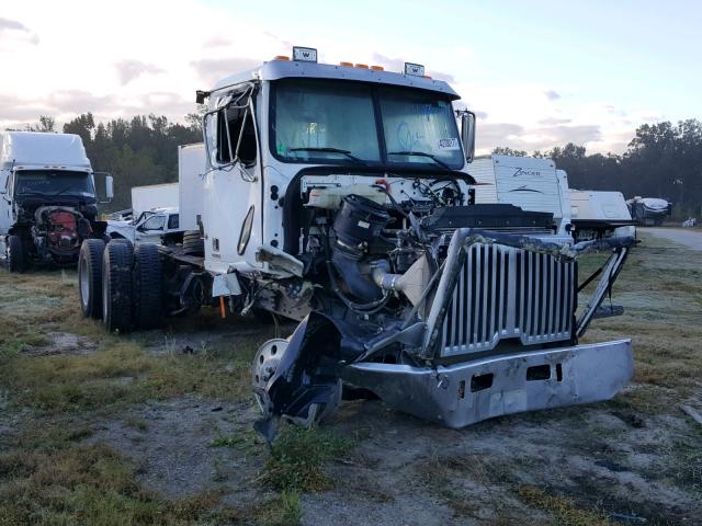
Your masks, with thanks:
<instances>
[{"instance_id":1,"label":"dark tree line on the right, behind the campers","mask_svg":"<svg viewBox=\"0 0 702 526\"><path fill-rule=\"evenodd\" d=\"M498 147L494 153L525 157L523 150ZM644 124L622 155L587 155L567 144L531 157L553 159L568 173L571 188L619 191L663 197L673 204L676 218L702 216L702 123L698 119Z\"/></svg>"}]
</instances>

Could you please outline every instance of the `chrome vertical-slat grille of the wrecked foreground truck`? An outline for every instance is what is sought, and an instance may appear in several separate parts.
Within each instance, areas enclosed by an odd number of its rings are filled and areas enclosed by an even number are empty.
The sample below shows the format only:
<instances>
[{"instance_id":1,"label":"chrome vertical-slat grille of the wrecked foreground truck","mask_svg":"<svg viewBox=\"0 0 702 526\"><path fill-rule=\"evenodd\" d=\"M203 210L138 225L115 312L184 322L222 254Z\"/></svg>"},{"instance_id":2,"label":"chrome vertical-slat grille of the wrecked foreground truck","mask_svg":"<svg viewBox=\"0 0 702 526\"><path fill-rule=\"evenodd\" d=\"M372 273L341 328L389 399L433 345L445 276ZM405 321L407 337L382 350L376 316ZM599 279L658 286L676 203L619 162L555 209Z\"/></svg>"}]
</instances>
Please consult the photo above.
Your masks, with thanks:
<instances>
[{"instance_id":1,"label":"chrome vertical-slat grille of the wrecked foreground truck","mask_svg":"<svg viewBox=\"0 0 702 526\"><path fill-rule=\"evenodd\" d=\"M575 263L499 244L472 244L443 319L440 355L568 340Z\"/></svg>"}]
</instances>

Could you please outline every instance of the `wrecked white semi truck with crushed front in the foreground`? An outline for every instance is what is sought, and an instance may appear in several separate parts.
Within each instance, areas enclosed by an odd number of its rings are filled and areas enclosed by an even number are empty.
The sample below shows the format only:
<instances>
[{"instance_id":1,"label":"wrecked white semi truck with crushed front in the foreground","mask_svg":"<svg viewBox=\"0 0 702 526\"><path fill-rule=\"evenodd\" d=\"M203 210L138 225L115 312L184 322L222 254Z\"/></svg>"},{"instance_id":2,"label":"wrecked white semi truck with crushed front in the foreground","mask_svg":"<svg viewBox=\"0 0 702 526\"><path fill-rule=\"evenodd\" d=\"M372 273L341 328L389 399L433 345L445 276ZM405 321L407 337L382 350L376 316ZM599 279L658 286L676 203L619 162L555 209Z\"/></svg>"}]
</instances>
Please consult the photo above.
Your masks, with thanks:
<instances>
[{"instance_id":1,"label":"wrecked white semi truck with crushed front in the foreground","mask_svg":"<svg viewBox=\"0 0 702 526\"><path fill-rule=\"evenodd\" d=\"M457 99L419 65L324 65L309 48L199 92L204 254L89 240L83 312L121 331L203 305L298 320L252 365L269 438L342 395L452 427L611 398L631 341L578 339L634 240L576 244L552 214L475 204L475 116ZM590 251L610 256L576 319Z\"/></svg>"}]
</instances>

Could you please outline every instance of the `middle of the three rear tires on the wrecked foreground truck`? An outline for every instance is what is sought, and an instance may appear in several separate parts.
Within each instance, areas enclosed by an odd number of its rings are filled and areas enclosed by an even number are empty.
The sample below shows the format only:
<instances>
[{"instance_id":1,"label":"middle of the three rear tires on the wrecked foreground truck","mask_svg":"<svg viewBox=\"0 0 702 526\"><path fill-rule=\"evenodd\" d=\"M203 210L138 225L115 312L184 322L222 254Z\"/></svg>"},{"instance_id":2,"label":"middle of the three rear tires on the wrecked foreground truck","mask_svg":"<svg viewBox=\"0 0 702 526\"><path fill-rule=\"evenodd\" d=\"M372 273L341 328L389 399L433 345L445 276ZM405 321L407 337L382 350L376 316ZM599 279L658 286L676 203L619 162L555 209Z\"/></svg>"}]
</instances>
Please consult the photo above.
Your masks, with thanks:
<instances>
[{"instance_id":1,"label":"middle of the three rear tires on the wrecked foreground truck","mask_svg":"<svg viewBox=\"0 0 702 526\"><path fill-rule=\"evenodd\" d=\"M132 329L132 243L110 242L102 259L102 321L107 332Z\"/></svg>"}]
</instances>

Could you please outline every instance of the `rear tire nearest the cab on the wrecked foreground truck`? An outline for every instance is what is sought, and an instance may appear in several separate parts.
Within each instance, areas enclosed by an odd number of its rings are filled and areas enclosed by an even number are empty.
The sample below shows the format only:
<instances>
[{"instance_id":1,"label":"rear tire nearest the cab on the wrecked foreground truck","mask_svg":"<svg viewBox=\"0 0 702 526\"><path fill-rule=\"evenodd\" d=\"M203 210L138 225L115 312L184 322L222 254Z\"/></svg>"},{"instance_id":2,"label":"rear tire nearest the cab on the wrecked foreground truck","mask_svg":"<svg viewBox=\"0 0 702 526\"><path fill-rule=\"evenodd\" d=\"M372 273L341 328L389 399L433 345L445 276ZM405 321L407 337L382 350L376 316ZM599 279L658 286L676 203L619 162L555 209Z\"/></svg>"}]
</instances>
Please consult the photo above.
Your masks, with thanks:
<instances>
[{"instance_id":1,"label":"rear tire nearest the cab on the wrecked foreground truck","mask_svg":"<svg viewBox=\"0 0 702 526\"><path fill-rule=\"evenodd\" d=\"M161 255L152 243L137 244L134 249L134 325L156 329L163 311L163 275Z\"/></svg>"}]
</instances>

